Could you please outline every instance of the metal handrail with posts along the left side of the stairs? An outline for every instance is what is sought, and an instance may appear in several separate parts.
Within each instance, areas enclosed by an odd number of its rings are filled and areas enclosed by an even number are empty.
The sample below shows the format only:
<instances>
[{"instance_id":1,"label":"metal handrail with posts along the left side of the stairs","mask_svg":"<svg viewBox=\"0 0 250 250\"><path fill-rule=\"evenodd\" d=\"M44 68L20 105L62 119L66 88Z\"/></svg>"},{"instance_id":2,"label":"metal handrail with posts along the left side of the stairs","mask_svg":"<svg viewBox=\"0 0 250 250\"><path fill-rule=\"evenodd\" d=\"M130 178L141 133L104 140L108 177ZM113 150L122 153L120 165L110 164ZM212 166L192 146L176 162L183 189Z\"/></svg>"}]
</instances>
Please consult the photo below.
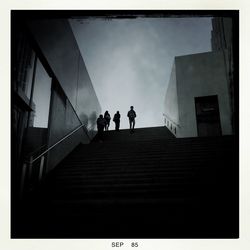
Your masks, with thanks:
<instances>
[{"instance_id":1,"label":"metal handrail with posts along the left side of the stairs","mask_svg":"<svg viewBox=\"0 0 250 250\"><path fill-rule=\"evenodd\" d=\"M32 189L33 182L31 181L31 179L32 179L32 172L33 172L34 163L38 163L37 181L39 183L43 177L45 155L81 128L84 129L84 132L86 133L86 135L88 136L88 138L90 140L91 138L89 137L88 132L86 131L87 129L86 129L85 125L81 124L79 127L77 127L76 129L74 129L73 131L71 131L70 133L65 135L62 139L60 139L59 141L54 143L52 146L50 146L48 149L46 149L45 151L40 153L38 156L35 156L38 152L38 150L36 150L36 151L33 151L32 153L30 153L28 157L26 157L26 159L24 160L22 172L21 172L20 198L23 197L27 177L28 177L28 184L27 185L30 186L30 187L28 187L28 189L29 190ZM38 160L40 160L40 163Z\"/></svg>"}]
</instances>

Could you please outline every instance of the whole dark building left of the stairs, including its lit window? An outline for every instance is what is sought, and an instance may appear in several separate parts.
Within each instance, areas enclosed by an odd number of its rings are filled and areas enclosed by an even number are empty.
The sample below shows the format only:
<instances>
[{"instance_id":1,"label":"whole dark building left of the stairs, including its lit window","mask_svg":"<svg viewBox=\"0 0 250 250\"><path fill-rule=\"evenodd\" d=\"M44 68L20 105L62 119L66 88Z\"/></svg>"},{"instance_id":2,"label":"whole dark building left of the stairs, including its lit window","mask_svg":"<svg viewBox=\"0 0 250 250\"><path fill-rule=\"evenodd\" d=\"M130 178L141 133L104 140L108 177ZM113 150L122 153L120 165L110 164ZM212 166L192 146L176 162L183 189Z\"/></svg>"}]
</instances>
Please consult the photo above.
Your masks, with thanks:
<instances>
[{"instance_id":1,"label":"whole dark building left of the stairs, including its lit window","mask_svg":"<svg viewBox=\"0 0 250 250\"><path fill-rule=\"evenodd\" d=\"M11 20L13 190L89 143L101 113L68 20L20 13Z\"/></svg>"}]
</instances>

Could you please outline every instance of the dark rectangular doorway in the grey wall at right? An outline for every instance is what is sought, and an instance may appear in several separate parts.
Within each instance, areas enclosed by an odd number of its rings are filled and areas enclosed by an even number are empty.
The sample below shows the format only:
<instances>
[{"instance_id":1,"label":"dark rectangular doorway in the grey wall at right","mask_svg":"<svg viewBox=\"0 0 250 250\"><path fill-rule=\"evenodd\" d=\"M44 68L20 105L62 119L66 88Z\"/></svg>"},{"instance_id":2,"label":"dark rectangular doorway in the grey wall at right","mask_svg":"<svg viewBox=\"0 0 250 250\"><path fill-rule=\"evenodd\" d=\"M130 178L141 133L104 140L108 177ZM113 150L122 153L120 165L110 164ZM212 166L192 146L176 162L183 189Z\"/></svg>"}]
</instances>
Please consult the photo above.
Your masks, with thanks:
<instances>
[{"instance_id":1,"label":"dark rectangular doorway in the grey wall at right","mask_svg":"<svg viewBox=\"0 0 250 250\"><path fill-rule=\"evenodd\" d=\"M198 136L221 135L217 95L195 97Z\"/></svg>"}]
</instances>

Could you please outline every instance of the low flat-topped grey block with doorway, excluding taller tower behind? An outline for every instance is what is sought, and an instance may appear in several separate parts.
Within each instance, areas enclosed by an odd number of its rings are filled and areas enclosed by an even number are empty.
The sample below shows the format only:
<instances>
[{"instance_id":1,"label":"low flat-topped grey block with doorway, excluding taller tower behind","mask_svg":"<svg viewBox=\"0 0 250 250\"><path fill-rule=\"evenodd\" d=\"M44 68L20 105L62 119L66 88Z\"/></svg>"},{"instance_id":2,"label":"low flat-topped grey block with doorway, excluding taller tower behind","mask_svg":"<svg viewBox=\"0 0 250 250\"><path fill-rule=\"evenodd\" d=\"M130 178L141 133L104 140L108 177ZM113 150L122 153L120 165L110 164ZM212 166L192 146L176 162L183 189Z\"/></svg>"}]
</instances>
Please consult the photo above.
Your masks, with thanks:
<instances>
[{"instance_id":1,"label":"low flat-topped grey block with doorway, excluding taller tower behind","mask_svg":"<svg viewBox=\"0 0 250 250\"><path fill-rule=\"evenodd\" d=\"M221 51L175 58L164 104L176 137L232 134L230 95Z\"/></svg>"}]
</instances>

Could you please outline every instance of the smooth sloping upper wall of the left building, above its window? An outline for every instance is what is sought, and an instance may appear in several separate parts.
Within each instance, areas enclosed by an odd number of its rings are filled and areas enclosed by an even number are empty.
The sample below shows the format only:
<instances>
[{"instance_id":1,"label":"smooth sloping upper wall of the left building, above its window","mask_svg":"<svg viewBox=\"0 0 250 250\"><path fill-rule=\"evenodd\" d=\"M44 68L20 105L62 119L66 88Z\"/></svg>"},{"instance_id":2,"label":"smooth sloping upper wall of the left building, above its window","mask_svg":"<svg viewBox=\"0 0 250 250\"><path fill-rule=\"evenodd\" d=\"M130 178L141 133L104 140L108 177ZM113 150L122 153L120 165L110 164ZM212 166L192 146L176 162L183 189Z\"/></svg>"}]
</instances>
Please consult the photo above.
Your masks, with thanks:
<instances>
[{"instance_id":1,"label":"smooth sloping upper wall of the left building, above its window","mask_svg":"<svg viewBox=\"0 0 250 250\"><path fill-rule=\"evenodd\" d=\"M68 20L33 20L28 25L72 107L93 135L101 107Z\"/></svg>"}]
</instances>

